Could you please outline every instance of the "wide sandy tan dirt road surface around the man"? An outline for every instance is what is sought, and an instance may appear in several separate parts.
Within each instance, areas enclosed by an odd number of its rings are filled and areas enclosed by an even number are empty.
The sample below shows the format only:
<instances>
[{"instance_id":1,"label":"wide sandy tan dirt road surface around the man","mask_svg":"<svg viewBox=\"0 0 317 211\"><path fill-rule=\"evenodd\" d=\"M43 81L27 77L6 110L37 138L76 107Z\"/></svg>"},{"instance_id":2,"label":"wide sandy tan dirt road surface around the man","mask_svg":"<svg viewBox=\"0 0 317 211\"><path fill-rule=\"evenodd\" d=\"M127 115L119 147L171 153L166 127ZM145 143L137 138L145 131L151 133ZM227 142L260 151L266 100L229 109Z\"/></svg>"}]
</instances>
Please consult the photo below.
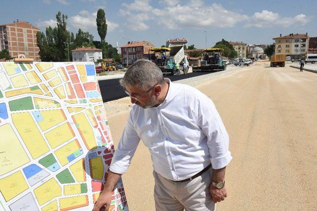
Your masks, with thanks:
<instances>
[{"instance_id":1,"label":"wide sandy tan dirt road surface around the man","mask_svg":"<svg viewBox=\"0 0 317 211\"><path fill-rule=\"evenodd\" d=\"M254 65L197 88L213 100L230 136L228 197L217 210L317 210L317 74ZM129 98L106 106L117 144ZM123 174L130 210L155 210L152 171L140 142Z\"/></svg>"}]
</instances>

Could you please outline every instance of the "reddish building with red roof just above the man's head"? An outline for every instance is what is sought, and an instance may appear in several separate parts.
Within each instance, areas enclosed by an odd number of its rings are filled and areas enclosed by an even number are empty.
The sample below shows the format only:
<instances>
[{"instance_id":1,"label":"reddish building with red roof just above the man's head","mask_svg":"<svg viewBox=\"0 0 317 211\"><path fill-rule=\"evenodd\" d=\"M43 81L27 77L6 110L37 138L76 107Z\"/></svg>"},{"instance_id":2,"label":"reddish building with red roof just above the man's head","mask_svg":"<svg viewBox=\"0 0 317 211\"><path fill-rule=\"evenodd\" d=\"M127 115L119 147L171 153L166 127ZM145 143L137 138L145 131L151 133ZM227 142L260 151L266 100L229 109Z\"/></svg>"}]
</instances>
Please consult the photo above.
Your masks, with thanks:
<instances>
[{"instance_id":1,"label":"reddish building with red roof just above the man's head","mask_svg":"<svg viewBox=\"0 0 317 211\"><path fill-rule=\"evenodd\" d=\"M154 47L149 41L142 42L128 42L126 45L121 46L121 58L124 64L132 64L138 59L149 58L149 48ZM153 53L152 51L150 53Z\"/></svg>"}]
</instances>

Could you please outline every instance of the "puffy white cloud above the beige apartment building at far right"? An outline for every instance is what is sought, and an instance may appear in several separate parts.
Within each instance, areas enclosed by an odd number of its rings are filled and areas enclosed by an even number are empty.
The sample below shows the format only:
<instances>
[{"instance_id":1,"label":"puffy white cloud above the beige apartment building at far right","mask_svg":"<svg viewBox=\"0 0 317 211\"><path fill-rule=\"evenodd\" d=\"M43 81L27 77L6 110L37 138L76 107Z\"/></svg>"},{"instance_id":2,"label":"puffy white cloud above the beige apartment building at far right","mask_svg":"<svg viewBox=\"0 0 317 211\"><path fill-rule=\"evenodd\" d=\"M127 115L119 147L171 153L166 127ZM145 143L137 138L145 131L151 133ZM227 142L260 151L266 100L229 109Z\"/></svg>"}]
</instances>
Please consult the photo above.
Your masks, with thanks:
<instances>
[{"instance_id":1,"label":"puffy white cloud above the beige apartment building at far right","mask_svg":"<svg viewBox=\"0 0 317 211\"><path fill-rule=\"evenodd\" d=\"M306 25L310 18L304 14L299 14L294 17L281 17L278 13L268 10L256 12L249 18L245 27L268 28L272 26L290 27L298 25Z\"/></svg>"}]
</instances>

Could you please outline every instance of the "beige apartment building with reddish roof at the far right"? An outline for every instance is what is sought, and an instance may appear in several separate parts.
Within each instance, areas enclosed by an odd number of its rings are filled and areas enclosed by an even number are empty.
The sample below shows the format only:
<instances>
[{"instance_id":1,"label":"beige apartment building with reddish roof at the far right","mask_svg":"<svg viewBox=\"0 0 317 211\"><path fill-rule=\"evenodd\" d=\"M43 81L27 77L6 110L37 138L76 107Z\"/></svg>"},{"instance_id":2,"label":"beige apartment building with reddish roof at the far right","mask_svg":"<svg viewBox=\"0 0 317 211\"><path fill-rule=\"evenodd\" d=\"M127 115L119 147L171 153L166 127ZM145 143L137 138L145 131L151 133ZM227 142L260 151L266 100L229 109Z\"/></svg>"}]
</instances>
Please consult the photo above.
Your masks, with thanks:
<instances>
[{"instance_id":1,"label":"beige apartment building with reddish roof at the far right","mask_svg":"<svg viewBox=\"0 0 317 211\"><path fill-rule=\"evenodd\" d=\"M279 35L273 38L275 41L275 54L286 54L297 59L308 52L309 36L308 34L289 34L286 36Z\"/></svg>"}]
</instances>

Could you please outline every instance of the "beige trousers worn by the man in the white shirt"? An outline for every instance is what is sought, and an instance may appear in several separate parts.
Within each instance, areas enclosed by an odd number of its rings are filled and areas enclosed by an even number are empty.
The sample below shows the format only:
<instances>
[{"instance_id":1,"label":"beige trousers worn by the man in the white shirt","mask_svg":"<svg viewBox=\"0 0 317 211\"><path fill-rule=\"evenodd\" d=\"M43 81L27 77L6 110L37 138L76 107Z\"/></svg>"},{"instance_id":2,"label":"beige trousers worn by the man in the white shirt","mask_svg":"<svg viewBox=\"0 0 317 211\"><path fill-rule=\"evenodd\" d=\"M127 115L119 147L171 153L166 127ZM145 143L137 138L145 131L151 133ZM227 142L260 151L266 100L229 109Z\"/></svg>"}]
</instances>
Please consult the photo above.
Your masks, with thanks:
<instances>
[{"instance_id":1,"label":"beige trousers worn by the man in the white shirt","mask_svg":"<svg viewBox=\"0 0 317 211\"><path fill-rule=\"evenodd\" d=\"M215 211L209 185L212 168L192 181L173 182L153 171L154 199L157 211Z\"/></svg>"}]
</instances>

